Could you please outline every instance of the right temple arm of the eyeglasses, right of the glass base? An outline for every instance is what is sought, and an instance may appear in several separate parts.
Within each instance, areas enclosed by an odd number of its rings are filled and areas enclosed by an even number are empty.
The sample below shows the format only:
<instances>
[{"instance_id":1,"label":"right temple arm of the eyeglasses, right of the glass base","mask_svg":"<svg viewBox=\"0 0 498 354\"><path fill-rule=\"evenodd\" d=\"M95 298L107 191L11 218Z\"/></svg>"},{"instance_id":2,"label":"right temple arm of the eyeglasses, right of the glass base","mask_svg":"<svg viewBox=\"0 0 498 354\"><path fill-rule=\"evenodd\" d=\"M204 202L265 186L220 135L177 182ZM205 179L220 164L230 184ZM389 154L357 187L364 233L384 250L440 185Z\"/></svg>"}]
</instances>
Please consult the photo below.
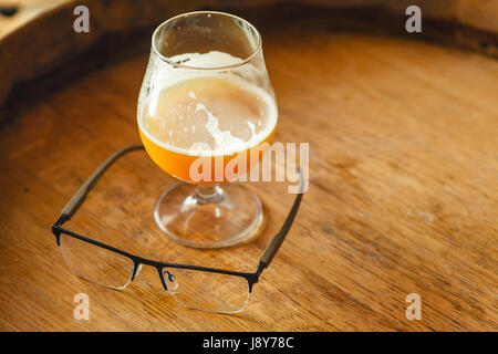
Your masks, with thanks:
<instances>
[{"instance_id":1,"label":"right temple arm of the eyeglasses, right of the glass base","mask_svg":"<svg viewBox=\"0 0 498 354\"><path fill-rule=\"evenodd\" d=\"M280 246L282 244L283 240L286 239L286 236L289 233L292 222L294 221L295 215L298 214L298 209L299 209L299 206L300 206L301 199L302 199L302 194L304 192L304 183L303 183L301 170L299 170L299 177L300 177L299 192L295 196L294 204L292 205L291 211L289 212L281 229L273 237L270 244L267 246L264 252L262 253L261 258L259 259L259 266L258 266L258 270L256 272L258 275L260 275L261 272L266 268L268 268L268 266L270 266L271 261L273 260L273 257L277 254L277 252L280 249Z\"/></svg>"}]
</instances>

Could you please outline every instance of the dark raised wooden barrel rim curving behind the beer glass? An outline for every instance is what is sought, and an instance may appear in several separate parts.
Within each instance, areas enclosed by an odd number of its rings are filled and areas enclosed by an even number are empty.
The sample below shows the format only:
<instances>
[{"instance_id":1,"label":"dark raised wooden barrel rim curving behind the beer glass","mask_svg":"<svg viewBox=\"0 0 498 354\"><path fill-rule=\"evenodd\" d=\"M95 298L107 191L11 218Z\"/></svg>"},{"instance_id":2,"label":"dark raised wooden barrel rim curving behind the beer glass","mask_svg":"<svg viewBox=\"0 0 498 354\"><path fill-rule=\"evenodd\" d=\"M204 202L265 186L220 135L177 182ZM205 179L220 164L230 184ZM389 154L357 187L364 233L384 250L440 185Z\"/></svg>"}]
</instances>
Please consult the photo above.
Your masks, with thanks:
<instances>
[{"instance_id":1,"label":"dark raised wooden barrel rim curving behind the beer glass","mask_svg":"<svg viewBox=\"0 0 498 354\"><path fill-rule=\"evenodd\" d=\"M330 29L405 37L405 11L413 4L421 8L423 15L423 31L412 34L413 39L498 58L498 0L0 0L0 8L19 9L11 18L0 17L0 108L17 95L17 86L30 85L31 81L77 59L97 43L102 54L115 49L112 44L116 42L121 50L135 46L131 33L149 35L165 19L183 12L241 11L239 14L266 18L274 24L282 18L311 21L320 15L326 19ZM82 35L73 30L76 6L89 8L91 34ZM123 32L127 32L127 40L121 35ZM0 110L0 119L3 117Z\"/></svg>"}]
</instances>

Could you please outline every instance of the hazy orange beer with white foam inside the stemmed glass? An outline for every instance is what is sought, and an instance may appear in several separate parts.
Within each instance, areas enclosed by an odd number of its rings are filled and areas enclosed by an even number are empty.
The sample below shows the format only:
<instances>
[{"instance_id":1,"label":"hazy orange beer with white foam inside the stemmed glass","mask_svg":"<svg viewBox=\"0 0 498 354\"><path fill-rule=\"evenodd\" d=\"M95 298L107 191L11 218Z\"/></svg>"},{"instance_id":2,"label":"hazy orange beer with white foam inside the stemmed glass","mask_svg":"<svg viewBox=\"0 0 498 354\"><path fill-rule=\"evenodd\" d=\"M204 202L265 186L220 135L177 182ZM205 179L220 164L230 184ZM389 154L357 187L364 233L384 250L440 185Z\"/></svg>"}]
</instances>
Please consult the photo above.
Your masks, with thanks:
<instances>
[{"instance_id":1,"label":"hazy orange beer with white foam inside the stemmed glass","mask_svg":"<svg viewBox=\"0 0 498 354\"><path fill-rule=\"evenodd\" d=\"M240 154L246 154L246 165L239 164L236 171L243 174L261 158L261 144L273 137L274 100L237 76L187 77L158 95L151 101L154 106L144 105L138 114L139 134L151 158L179 179L225 181L230 177L225 174L227 164ZM252 154L259 156L251 158ZM200 168L209 166L210 178L193 179L196 162Z\"/></svg>"}]
</instances>

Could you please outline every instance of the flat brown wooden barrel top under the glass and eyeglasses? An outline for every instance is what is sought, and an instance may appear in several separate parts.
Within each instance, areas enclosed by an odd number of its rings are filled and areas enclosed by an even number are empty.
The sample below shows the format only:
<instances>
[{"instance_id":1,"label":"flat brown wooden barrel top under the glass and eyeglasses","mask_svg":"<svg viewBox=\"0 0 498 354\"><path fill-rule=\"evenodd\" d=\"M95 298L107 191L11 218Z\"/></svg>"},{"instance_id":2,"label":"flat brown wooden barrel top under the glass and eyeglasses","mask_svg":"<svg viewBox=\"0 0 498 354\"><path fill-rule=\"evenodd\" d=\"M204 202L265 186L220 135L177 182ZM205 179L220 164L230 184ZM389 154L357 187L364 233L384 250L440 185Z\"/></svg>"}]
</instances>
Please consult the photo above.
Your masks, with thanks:
<instances>
[{"instance_id":1,"label":"flat brown wooden barrel top under the glass and eyeglasses","mask_svg":"<svg viewBox=\"0 0 498 354\"><path fill-rule=\"evenodd\" d=\"M70 196L139 142L139 54L43 100L34 91L1 123L0 330L498 330L498 63L311 20L261 32L276 140L310 143L310 188L246 311L186 310L147 267L126 290L95 287L56 248L50 225ZM201 251L154 223L153 205L174 184L133 153L66 227L152 259L253 271L292 200L283 184L248 184L264 204L263 233ZM90 296L89 321L73 319L77 293ZM421 321L405 316L408 293L422 296Z\"/></svg>"}]
</instances>

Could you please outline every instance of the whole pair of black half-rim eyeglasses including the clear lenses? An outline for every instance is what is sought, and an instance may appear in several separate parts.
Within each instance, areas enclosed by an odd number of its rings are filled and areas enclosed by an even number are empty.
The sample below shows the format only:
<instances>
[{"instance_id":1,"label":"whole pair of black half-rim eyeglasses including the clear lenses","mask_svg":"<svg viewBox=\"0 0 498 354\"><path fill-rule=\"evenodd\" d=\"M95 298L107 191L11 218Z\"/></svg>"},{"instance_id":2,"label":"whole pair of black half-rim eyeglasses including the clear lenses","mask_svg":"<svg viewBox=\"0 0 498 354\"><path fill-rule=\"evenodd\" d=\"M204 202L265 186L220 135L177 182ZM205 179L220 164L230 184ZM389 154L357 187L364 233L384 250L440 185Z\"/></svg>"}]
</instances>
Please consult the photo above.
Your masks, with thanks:
<instances>
[{"instance_id":1,"label":"whole pair of black half-rim eyeglasses including the clear lenses","mask_svg":"<svg viewBox=\"0 0 498 354\"><path fill-rule=\"evenodd\" d=\"M164 290L183 305L208 312L241 312L248 303L252 287L258 282L262 271L270 266L295 218L303 194L301 173L300 188L292 208L281 229L260 257L258 268L253 273L154 261L61 227L74 216L87 194L112 164L129 152L143 149L142 145L134 145L110 156L80 187L62 209L58 221L52 225L52 232L55 235L58 246L69 268L79 277L95 284L124 289L139 273L143 264L155 267Z\"/></svg>"}]
</instances>

